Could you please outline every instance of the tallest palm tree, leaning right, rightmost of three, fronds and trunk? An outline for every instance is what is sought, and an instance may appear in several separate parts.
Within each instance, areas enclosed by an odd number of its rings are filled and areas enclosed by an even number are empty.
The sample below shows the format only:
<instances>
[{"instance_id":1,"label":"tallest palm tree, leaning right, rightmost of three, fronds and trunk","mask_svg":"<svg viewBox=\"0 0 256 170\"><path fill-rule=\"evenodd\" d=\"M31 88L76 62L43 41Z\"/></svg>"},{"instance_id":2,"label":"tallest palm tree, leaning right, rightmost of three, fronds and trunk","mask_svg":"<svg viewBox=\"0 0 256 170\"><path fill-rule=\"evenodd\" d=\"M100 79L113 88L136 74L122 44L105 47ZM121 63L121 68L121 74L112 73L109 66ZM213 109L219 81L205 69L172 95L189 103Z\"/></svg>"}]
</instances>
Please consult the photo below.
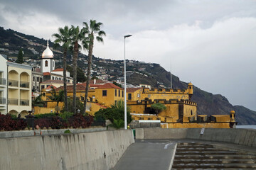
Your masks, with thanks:
<instances>
[{"instance_id":1,"label":"tallest palm tree, leaning right, rightmost of three, fronds and trunk","mask_svg":"<svg viewBox=\"0 0 256 170\"><path fill-rule=\"evenodd\" d=\"M85 88L85 101L84 101L84 111L86 111L86 104L87 104L87 97L88 97L88 90L89 90L89 81L90 81L90 71L91 71L91 64L92 64L92 49L94 45L94 39L98 42L103 42L102 35L106 35L105 31L100 30L100 27L103 25L102 23L97 23L96 20L90 20L90 27L87 23L83 23L85 27L83 28L86 33L88 33L88 37L85 38L83 41L83 46L89 48L88 52L88 67L87 67L87 80L86 80L86 88Z\"/></svg>"}]
</instances>

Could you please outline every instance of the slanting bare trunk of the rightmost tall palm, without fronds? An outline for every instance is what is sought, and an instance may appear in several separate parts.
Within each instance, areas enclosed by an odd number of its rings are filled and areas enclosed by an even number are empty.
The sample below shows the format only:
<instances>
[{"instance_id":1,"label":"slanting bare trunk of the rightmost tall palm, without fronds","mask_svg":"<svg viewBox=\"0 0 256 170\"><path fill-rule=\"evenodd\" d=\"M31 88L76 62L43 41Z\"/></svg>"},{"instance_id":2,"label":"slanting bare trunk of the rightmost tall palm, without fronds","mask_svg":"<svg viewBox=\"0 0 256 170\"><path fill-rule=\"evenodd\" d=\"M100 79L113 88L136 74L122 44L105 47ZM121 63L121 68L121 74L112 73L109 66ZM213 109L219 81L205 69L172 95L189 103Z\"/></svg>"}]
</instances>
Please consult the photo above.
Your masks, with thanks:
<instances>
[{"instance_id":1,"label":"slanting bare trunk of the rightmost tall palm, without fronds","mask_svg":"<svg viewBox=\"0 0 256 170\"><path fill-rule=\"evenodd\" d=\"M84 111L83 111L83 113L86 112L86 104L87 104L87 97L88 97L88 91L89 91L90 71L91 71L91 65L92 65L92 48L93 48L93 38L92 38L92 41L89 45L87 80L86 80L86 88L85 88L85 101L84 101Z\"/></svg>"}]
</instances>

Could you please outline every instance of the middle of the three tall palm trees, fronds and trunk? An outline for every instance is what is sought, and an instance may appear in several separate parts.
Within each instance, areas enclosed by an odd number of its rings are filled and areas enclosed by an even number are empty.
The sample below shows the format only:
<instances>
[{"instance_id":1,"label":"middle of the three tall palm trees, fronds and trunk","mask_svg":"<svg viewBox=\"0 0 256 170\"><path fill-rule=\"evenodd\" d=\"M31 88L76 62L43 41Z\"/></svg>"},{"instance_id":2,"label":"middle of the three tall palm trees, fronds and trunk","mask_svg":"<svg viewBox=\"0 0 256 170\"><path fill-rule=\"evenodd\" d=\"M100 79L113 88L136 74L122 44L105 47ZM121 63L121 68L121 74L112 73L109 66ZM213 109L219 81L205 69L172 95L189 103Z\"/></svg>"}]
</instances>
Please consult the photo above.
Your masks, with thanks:
<instances>
[{"instance_id":1,"label":"middle of the three tall palm trees, fronds and trunk","mask_svg":"<svg viewBox=\"0 0 256 170\"><path fill-rule=\"evenodd\" d=\"M71 26L70 28L70 40L72 43L71 50L73 50L73 106L74 106L74 114L76 114L76 84L77 84L77 61L78 61L78 51L80 49L79 42L81 42L85 35L83 34L84 30L80 30L79 26Z\"/></svg>"}]
</instances>

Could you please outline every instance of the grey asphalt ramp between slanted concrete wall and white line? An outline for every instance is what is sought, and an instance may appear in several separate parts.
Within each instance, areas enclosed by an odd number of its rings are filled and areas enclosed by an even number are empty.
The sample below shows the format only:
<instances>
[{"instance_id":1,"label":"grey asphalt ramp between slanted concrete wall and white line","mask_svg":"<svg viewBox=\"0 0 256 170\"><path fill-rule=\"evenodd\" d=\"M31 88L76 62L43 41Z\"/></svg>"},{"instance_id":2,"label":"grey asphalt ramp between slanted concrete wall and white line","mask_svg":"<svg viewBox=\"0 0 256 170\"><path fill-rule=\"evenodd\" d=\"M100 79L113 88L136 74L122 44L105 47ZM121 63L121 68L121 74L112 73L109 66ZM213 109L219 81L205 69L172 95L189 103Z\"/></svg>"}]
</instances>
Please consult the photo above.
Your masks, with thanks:
<instances>
[{"instance_id":1,"label":"grey asphalt ramp between slanted concrete wall and white line","mask_svg":"<svg viewBox=\"0 0 256 170\"><path fill-rule=\"evenodd\" d=\"M112 170L169 170L176 142L138 140L130 145Z\"/></svg>"}]
</instances>

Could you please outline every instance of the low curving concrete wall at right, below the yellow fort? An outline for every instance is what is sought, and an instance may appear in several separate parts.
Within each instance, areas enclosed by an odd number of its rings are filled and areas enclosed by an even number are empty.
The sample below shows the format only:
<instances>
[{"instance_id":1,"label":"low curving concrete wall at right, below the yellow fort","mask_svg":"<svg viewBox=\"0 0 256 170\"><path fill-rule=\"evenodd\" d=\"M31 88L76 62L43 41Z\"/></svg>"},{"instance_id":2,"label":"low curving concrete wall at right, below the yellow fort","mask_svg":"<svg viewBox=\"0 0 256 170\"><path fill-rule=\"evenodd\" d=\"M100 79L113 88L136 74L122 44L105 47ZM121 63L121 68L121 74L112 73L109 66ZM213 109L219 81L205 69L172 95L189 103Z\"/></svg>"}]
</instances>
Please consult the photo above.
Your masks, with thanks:
<instances>
[{"instance_id":1,"label":"low curving concrete wall at right, below the yellow fort","mask_svg":"<svg viewBox=\"0 0 256 170\"><path fill-rule=\"evenodd\" d=\"M139 128L136 129L136 138L208 140L256 147L256 130L247 129L206 128L201 135L201 129L198 128Z\"/></svg>"}]
</instances>

